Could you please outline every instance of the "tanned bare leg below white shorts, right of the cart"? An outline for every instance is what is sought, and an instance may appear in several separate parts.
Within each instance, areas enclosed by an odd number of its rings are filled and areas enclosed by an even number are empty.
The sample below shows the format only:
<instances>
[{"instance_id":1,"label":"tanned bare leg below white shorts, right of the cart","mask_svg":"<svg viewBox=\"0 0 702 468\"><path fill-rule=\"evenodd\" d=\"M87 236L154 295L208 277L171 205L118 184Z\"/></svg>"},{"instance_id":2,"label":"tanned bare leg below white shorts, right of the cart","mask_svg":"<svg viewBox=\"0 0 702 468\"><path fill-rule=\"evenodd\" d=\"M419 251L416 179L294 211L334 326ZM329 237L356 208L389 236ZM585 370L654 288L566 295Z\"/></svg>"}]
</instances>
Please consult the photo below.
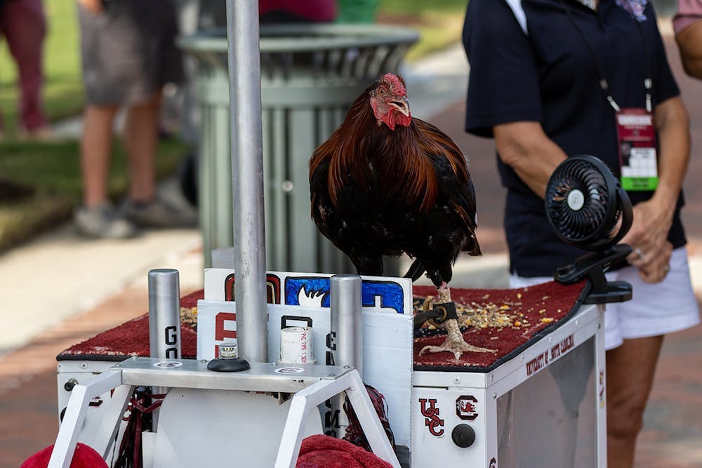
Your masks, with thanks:
<instances>
[{"instance_id":1,"label":"tanned bare leg below white shorts, right of the cart","mask_svg":"<svg viewBox=\"0 0 702 468\"><path fill-rule=\"evenodd\" d=\"M643 424L662 343L662 335L636 338L607 351L609 468L633 467L636 437Z\"/></svg>"}]
</instances>

